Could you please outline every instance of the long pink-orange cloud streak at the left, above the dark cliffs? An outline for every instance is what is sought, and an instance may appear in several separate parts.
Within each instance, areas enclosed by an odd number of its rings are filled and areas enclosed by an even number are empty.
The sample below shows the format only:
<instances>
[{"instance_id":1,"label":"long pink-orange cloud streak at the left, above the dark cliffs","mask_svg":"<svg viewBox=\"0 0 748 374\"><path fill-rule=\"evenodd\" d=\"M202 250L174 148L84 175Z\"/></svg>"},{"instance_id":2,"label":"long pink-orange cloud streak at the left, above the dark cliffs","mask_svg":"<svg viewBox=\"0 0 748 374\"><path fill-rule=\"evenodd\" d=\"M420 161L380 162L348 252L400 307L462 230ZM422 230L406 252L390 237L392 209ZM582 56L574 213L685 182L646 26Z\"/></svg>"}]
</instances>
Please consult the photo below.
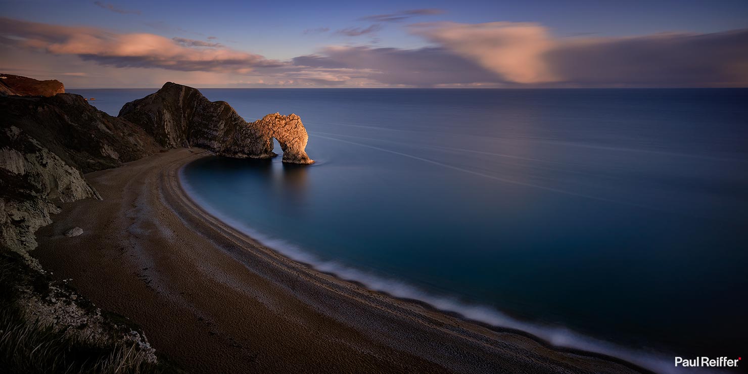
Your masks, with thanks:
<instances>
[{"instance_id":1,"label":"long pink-orange cloud streak at the left, above the dark cliffs","mask_svg":"<svg viewBox=\"0 0 748 374\"><path fill-rule=\"evenodd\" d=\"M155 34L117 34L100 28L47 25L0 17L0 37L16 48L52 55L76 55L113 67L180 71L248 73L257 67L280 67L281 61L223 48L218 43ZM210 48L204 48L204 47Z\"/></svg>"}]
</instances>

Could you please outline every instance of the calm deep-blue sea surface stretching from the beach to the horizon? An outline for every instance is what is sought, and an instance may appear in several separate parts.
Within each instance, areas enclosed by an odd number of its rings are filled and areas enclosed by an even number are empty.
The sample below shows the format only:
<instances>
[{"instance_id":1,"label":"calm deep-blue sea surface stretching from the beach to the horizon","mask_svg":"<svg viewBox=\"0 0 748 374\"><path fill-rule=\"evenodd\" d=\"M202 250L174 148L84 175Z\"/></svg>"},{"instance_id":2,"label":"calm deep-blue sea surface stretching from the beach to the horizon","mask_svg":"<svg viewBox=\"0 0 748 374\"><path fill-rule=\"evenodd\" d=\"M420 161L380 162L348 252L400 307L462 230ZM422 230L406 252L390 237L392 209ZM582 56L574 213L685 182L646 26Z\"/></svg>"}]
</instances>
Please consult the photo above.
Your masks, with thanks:
<instances>
[{"instance_id":1,"label":"calm deep-blue sea surface stretching from the beach to the horizon","mask_svg":"<svg viewBox=\"0 0 748 374\"><path fill-rule=\"evenodd\" d=\"M70 90L113 115L155 91ZM310 167L183 171L291 257L632 361L746 355L748 90L200 91L301 116Z\"/></svg>"}]
</instances>

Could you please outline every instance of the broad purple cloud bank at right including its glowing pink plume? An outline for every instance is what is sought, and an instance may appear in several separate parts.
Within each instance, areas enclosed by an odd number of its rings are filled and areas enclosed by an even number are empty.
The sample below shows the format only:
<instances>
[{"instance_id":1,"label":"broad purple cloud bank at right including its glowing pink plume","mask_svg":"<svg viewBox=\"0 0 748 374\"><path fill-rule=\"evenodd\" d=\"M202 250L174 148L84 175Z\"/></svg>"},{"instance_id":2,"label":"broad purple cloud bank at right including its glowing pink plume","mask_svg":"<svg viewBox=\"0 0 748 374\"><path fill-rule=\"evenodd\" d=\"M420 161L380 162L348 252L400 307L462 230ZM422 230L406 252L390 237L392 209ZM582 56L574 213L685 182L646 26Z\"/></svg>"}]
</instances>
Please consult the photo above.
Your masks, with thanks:
<instances>
[{"instance_id":1,"label":"broad purple cloud bank at right including its glowing pink plume","mask_svg":"<svg viewBox=\"0 0 748 374\"><path fill-rule=\"evenodd\" d=\"M411 87L747 87L748 29L713 34L554 38L536 24L418 25L434 46L331 46L298 67L359 69Z\"/></svg>"}]
</instances>

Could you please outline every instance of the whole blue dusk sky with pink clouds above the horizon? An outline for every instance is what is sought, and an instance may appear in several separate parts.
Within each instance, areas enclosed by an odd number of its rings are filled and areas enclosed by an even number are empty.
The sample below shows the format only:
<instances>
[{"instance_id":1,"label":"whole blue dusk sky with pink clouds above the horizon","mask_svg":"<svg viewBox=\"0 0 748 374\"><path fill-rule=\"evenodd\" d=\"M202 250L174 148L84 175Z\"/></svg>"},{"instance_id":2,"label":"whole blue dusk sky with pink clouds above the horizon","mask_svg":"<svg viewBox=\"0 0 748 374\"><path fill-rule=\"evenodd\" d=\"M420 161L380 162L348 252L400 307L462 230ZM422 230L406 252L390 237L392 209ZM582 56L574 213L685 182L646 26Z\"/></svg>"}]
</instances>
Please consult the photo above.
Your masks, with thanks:
<instances>
[{"instance_id":1,"label":"whole blue dusk sky with pink clouds above the horizon","mask_svg":"<svg viewBox=\"0 0 748 374\"><path fill-rule=\"evenodd\" d=\"M67 88L748 87L748 1L0 0Z\"/></svg>"}]
</instances>

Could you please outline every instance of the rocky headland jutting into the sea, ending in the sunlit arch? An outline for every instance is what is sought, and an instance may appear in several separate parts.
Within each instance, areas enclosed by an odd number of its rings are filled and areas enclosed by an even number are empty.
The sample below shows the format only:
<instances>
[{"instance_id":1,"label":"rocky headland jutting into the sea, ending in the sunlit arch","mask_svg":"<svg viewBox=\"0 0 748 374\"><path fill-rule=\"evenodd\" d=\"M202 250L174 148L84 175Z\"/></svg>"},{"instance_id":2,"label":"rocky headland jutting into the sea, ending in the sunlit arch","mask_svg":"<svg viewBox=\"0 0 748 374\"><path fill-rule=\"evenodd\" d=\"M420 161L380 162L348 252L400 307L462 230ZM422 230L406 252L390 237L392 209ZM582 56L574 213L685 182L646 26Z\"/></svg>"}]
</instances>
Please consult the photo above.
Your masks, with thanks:
<instances>
[{"instance_id":1,"label":"rocky headland jutting into the sea, ending in the sunlit arch","mask_svg":"<svg viewBox=\"0 0 748 374\"><path fill-rule=\"evenodd\" d=\"M283 162L310 164L304 148L307 130L291 114L269 114L247 123L227 102L211 102L195 88L166 83L158 92L126 103L119 117L143 127L168 148L203 147L219 156L268 158L272 138L283 148Z\"/></svg>"}]
</instances>

